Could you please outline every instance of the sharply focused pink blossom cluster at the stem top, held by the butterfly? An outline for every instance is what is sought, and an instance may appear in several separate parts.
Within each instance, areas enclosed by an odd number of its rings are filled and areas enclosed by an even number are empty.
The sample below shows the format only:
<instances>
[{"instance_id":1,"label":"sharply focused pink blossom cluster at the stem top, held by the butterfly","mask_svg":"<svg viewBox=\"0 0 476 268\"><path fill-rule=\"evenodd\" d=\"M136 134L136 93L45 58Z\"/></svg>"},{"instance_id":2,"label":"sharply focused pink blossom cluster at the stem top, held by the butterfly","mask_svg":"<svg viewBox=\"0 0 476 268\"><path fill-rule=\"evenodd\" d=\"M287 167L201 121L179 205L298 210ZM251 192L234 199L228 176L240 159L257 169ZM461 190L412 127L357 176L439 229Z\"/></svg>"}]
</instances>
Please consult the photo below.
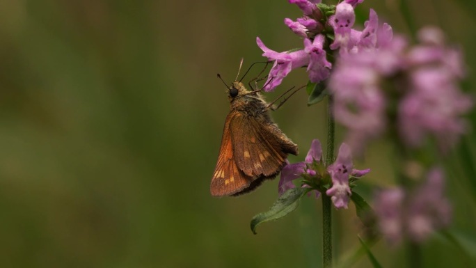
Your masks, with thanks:
<instances>
[{"instance_id":1,"label":"sharply focused pink blossom cluster at the stem top, held by the butterfly","mask_svg":"<svg viewBox=\"0 0 476 268\"><path fill-rule=\"evenodd\" d=\"M258 37L256 42L262 49L263 56L269 61L274 61L269 72L268 79L263 90L271 91L281 84L284 77L296 68L307 66L309 80L318 83L326 80L330 75L332 63L328 61L324 45L326 38L324 34L331 29L335 33L335 41L331 44L331 49L346 50L351 49L352 43L365 47L372 43L375 34L372 33L374 24L369 24L364 31L351 29L355 22L354 7L363 0L346 0L338 4L335 15L326 19L326 15L317 8L316 4L321 1L289 0L295 3L303 11L303 17L293 21L285 18L285 24L303 38L304 48L293 52L275 52L264 45ZM376 18L376 13L372 10L371 15ZM390 29L391 31L391 29ZM327 41L328 42L328 41Z\"/></svg>"}]
</instances>

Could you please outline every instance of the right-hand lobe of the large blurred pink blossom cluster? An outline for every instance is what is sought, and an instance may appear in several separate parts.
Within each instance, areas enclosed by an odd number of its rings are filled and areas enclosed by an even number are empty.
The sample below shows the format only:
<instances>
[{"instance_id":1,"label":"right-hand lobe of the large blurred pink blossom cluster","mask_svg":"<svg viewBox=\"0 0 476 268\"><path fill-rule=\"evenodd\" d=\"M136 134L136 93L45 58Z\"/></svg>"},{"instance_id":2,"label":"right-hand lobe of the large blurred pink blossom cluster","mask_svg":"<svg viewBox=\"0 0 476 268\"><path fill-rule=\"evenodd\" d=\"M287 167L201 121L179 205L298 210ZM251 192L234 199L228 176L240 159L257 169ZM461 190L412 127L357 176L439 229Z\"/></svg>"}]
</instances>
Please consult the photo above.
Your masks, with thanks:
<instances>
[{"instance_id":1,"label":"right-hand lobe of the large blurred pink blossom cluster","mask_svg":"<svg viewBox=\"0 0 476 268\"><path fill-rule=\"evenodd\" d=\"M399 131L411 147L433 136L447 150L466 131L461 118L473 100L459 90L463 63L459 51L444 47L443 33L427 28L419 33L422 45L408 52L408 89L399 104Z\"/></svg>"}]
</instances>

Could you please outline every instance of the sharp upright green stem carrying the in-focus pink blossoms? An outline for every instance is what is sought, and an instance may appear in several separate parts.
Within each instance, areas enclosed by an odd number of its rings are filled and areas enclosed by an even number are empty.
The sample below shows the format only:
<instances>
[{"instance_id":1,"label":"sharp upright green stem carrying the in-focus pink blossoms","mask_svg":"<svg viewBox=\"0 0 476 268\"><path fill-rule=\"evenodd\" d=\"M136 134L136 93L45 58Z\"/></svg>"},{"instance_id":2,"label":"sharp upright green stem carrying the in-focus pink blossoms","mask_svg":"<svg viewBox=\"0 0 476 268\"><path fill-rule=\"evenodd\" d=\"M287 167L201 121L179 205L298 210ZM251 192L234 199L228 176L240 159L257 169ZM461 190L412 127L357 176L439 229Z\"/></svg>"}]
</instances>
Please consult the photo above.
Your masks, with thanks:
<instances>
[{"instance_id":1,"label":"sharp upright green stem carrying the in-focus pink blossoms","mask_svg":"<svg viewBox=\"0 0 476 268\"><path fill-rule=\"evenodd\" d=\"M334 161L335 122L333 116L333 97L327 97L327 152L326 165ZM322 193L322 260L323 267L332 267L332 211L331 197Z\"/></svg>"}]
</instances>

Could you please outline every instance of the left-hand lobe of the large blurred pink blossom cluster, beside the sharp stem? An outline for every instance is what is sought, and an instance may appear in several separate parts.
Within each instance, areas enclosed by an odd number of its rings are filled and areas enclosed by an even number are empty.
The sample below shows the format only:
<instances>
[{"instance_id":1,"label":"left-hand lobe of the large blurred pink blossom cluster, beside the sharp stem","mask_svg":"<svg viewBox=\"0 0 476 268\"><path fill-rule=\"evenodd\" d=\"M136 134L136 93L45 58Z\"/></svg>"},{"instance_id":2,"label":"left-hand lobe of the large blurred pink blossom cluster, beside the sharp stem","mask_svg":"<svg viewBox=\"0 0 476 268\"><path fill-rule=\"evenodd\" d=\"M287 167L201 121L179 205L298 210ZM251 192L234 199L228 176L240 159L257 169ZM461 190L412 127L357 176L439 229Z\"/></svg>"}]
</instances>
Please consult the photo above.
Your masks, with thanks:
<instances>
[{"instance_id":1,"label":"left-hand lobe of the large blurred pink blossom cluster, beside the sharp stem","mask_svg":"<svg viewBox=\"0 0 476 268\"><path fill-rule=\"evenodd\" d=\"M328 86L334 96L334 116L347 127L347 143L360 155L368 141L384 132L386 97L380 88L378 58L370 54L341 55Z\"/></svg>"}]
</instances>

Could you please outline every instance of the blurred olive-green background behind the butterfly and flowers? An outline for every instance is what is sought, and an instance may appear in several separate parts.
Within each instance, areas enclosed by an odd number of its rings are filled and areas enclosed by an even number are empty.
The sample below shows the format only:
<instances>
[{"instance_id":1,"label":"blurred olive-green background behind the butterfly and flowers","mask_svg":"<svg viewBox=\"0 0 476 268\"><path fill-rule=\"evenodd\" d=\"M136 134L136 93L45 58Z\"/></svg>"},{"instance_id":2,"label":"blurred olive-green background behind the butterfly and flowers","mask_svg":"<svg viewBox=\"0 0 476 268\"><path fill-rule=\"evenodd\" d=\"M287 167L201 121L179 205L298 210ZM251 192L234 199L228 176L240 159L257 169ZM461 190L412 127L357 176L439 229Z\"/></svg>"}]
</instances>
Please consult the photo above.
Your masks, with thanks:
<instances>
[{"instance_id":1,"label":"blurred olive-green background behind the butterfly and flowers","mask_svg":"<svg viewBox=\"0 0 476 268\"><path fill-rule=\"evenodd\" d=\"M408 33L399 1L366 0L358 14L369 8ZM474 3L418 1L411 12L461 45L474 85ZM262 61L256 36L277 51L302 47L283 24L300 15L285 0L0 1L1 267L319 267L320 200L253 235L278 180L239 198L209 195L228 113L216 73L232 81L241 57L245 68ZM281 90L305 81L295 72ZM299 144L291 161L326 136L324 105L306 100L302 91L272 115ZM372 168L367 198L370 185L392 184L389 151L376 143L357 164ZM448 184L454 228L474 234L468 182ZM353 205L334 222L338 258L358 246L360 223ZM437 240L425 251L438 267L459 263ZM398 249L376 254L399 267Z\"/></svg>"}]
</instances>

